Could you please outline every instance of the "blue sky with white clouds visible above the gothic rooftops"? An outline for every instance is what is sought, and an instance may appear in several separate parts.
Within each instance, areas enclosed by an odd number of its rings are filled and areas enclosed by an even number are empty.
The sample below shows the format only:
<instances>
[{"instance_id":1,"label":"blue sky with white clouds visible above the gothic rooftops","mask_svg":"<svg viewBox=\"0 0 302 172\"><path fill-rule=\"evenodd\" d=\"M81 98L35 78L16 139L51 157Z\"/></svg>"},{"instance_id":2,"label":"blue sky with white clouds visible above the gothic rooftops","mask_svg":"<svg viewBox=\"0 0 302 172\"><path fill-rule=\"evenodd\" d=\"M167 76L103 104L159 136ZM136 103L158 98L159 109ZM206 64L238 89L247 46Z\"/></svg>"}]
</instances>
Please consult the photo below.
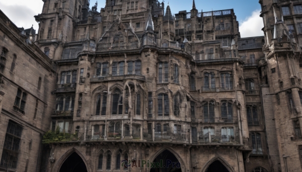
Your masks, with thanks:
<instances>
[{"instance_id":1,"label":"blue sky with white clouds visible above the gothic rooftops","mask_svg":"<svg viewBox=\"0 0 302 172\"><path fill-rule=\"evenodd\" d=\"M95 5L97 0L90 0L90 8ZM147 1L147 0L139 0ZM159 0L162 2L162 0ZM195 0L196 9L201 12L216 10L234 9L241 37L263 36L262 18L259 17L261 7L259 0ZM164 1L165 8L168 3L173 14L179 11L190 11L193 0L172 0ZM19 28L30 28L38 30L38 24L34 16L42 12L42 0L0 0L0 10L2 10ZM105 0L98 0L98 11L105 7Z\"/></svg>"}]
</instances>

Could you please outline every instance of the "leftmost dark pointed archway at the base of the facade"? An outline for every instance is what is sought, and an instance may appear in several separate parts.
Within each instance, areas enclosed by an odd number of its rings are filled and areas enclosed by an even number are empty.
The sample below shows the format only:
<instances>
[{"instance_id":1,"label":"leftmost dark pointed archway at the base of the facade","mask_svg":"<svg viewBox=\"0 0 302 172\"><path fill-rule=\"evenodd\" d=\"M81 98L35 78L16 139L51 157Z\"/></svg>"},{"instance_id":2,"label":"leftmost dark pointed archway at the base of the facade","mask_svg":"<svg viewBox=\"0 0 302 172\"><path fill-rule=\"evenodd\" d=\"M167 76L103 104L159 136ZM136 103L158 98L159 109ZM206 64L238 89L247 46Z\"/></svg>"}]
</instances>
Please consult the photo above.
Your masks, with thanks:
<instances>
[{"instance_id":1,"label":"leftmost dark pointed archway at the base of the facade","mask_svg":"<svg viewBox=\"0 0 302 172\"><path fill-rule=\"evenodd\" d=\"M81 156L73 152L64 161L59 172L87 172L87 168Z\"/></svg>"}]
</instances>

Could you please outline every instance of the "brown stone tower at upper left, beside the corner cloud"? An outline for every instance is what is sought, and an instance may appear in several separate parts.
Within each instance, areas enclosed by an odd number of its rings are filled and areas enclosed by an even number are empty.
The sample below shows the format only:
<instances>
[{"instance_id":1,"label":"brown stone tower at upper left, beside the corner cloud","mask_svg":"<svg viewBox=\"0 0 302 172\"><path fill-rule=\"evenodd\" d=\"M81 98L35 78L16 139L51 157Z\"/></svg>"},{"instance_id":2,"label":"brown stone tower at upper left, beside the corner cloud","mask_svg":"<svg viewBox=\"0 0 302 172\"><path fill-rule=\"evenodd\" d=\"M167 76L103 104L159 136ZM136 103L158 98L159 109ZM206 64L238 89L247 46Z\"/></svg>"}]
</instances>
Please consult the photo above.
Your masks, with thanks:
<instances>
[{"instance_id":1,"label":"brown stone tower at upper left, beside the corner cloud","mask_svg":"<svg viewBox=\"0 0 302 172\"><path fill-rule=\"evenodd\" d=\"M90 0L85 1L44 1L42 13L35 16L39 23L38 39L36 44L42 51L53 59L56 48L60 43L72 41L74 23L82 19L87 20Z\"/></svg>"}]
</instances>

